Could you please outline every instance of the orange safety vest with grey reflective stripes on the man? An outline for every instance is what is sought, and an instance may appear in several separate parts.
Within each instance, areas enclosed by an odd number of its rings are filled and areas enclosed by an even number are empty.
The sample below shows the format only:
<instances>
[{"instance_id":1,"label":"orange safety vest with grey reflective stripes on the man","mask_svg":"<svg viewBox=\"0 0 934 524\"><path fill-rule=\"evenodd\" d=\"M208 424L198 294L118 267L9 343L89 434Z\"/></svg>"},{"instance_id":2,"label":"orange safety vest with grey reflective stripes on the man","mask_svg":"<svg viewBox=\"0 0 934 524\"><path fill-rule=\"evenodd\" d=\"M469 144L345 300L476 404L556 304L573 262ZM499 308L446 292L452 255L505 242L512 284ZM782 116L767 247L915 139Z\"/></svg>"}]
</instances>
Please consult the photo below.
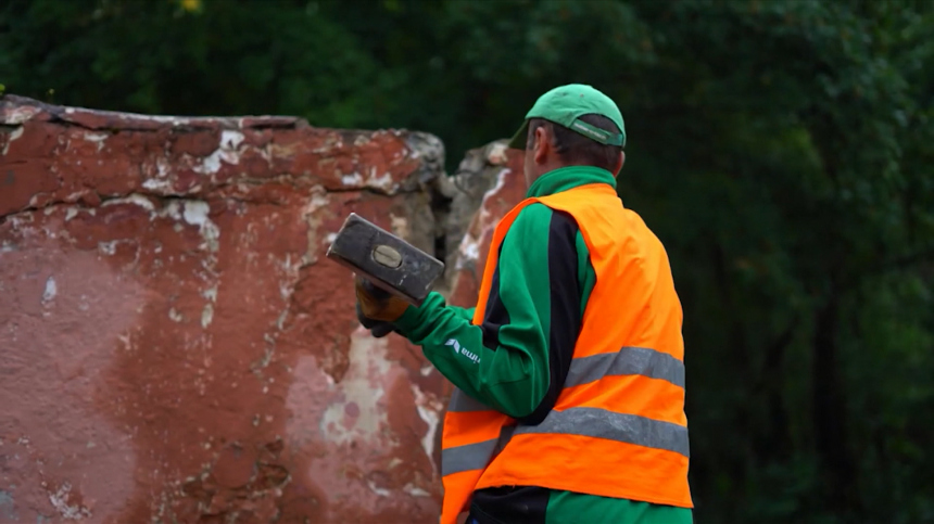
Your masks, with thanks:
<instances>
[{"instance_id":1,"label":"orange safety vest with grey reflective stripes on the man","mask_svg":"<svg viewBox=\"0 0 934 524\"><path fill-rule=\"evenodd\" d=\"M613 187L526 199L496 226L472 323L483 321L500 245L532 203L570 214L596 283L570 370L538 425L517 424L455 389L444 416L441 524L476 489L544 488L693 508L687 485L681 303L661 242Z\"/></svg>"}]
</instances>

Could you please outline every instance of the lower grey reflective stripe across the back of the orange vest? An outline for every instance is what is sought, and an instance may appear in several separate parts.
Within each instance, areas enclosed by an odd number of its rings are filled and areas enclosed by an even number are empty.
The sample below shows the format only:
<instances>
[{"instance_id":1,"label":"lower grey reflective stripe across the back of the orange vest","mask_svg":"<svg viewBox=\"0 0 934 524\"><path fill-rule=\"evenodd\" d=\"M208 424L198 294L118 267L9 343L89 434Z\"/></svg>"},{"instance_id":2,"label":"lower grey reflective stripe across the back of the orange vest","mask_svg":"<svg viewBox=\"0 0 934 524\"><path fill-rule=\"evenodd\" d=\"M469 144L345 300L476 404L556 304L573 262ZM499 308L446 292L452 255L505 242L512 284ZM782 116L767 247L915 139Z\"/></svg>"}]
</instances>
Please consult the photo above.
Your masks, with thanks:
<instances>
[{"instance_id":1,"label":"lower grey reflective stripe across the back of the orange vest","mask_svg":"<svg viewBox=\"0 0 934 524\"><path fill-rule=\"evenodd\" d=\"M552 410L541 424L520 425L515 433L556 433L606 438L691 457L687 427L601 408Z\"/></svg>"}]
</instances>

